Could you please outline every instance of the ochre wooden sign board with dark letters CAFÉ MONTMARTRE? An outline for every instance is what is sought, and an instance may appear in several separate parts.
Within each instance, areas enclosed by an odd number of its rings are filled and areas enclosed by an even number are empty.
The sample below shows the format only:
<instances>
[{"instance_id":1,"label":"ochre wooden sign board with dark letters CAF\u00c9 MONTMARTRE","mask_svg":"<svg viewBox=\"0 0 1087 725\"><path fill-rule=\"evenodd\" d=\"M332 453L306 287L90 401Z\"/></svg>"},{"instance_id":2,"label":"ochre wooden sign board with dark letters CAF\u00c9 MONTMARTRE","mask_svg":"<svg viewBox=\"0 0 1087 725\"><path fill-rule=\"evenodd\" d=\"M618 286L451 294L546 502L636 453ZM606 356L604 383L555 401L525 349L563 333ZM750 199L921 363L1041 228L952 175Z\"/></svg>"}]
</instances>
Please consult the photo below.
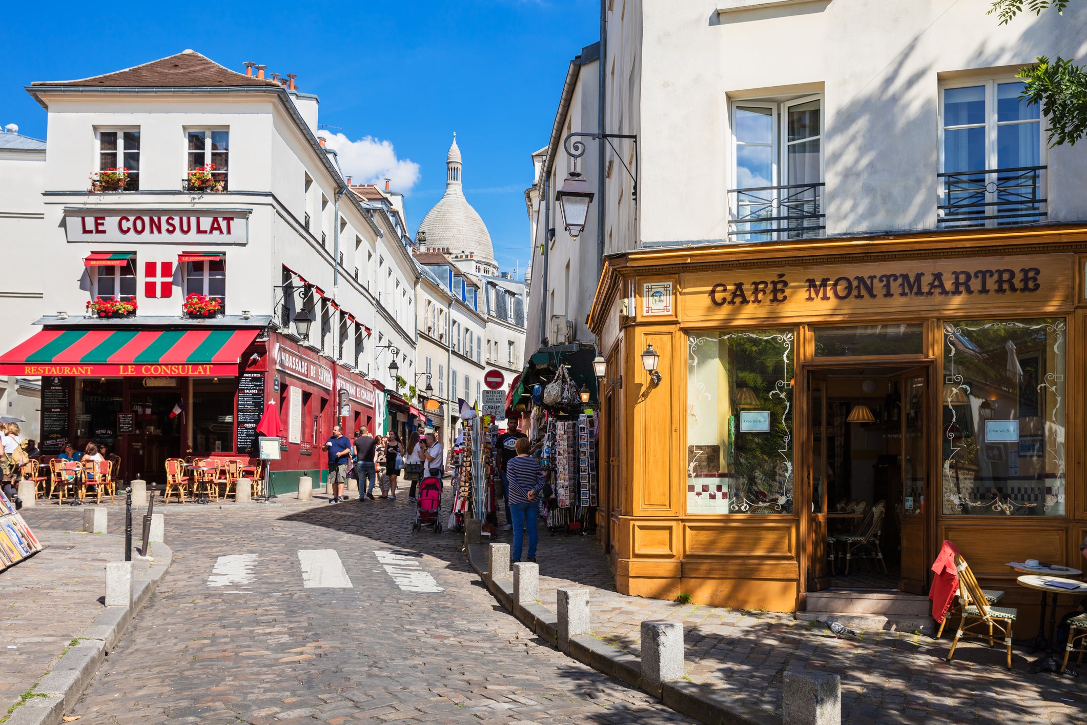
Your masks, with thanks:
<instances>
[{"instance_id":1,"label":"ochre wooden sign board with dark letters CAF\u00c9 MONTMARTRE","mask_svg":"<svg viewBox=\"0 0 1087 725\"><path fill-rule=\"evenodd\" d=\"M760 314L903 311L939 307L1071 301L1067 254L909 260L877 264L685 275L680 289L688 318Z\"/></svg>"}]
</instances>

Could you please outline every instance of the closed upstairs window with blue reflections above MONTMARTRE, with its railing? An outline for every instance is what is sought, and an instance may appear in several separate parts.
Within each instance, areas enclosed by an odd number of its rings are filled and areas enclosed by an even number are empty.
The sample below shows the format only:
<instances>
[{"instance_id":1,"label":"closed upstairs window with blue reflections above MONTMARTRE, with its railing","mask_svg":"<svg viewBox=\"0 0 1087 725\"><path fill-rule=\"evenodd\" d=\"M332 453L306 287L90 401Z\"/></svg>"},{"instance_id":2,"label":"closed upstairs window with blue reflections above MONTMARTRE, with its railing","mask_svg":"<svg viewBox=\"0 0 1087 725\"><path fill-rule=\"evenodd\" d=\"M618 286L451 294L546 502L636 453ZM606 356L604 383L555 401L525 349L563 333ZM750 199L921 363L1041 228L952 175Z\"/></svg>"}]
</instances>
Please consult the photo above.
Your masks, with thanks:
<instances>
[{"instance_id":1,"label":"closed upstairs window with blue reflections above MONTMARTRE, with its railing","mask_svg":"<svg viewBox=\"0 0 1087 725\"><path fill-rule=\"evenodd\" d=\"M940 88L939 225L1030 224L1046 218L1041 114L1012 77Z\"/></svg>"}]
</instances>

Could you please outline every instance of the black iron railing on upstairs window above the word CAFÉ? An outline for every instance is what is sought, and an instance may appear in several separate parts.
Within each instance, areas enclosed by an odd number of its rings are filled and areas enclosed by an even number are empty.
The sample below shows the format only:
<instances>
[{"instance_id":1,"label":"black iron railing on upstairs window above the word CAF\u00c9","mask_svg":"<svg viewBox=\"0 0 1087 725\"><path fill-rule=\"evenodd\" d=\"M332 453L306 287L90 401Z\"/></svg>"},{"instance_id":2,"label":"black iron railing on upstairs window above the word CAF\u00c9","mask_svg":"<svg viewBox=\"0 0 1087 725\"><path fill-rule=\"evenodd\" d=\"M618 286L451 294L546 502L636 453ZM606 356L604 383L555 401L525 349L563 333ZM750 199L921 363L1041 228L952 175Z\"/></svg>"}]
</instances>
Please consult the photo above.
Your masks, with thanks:
<instances>
[{"instance_id":1,"label":"black iron railing on upstairs window above the word CAF\u00c9","mask_svg":"<svg viewBox=\"0 0 1087 725\"><path fill-rule=\"evenodd\" d=\"M826 230L819 184L760 186L728 191L728 240L775 241L822 237Z\"/></svg>"}]
</instances>

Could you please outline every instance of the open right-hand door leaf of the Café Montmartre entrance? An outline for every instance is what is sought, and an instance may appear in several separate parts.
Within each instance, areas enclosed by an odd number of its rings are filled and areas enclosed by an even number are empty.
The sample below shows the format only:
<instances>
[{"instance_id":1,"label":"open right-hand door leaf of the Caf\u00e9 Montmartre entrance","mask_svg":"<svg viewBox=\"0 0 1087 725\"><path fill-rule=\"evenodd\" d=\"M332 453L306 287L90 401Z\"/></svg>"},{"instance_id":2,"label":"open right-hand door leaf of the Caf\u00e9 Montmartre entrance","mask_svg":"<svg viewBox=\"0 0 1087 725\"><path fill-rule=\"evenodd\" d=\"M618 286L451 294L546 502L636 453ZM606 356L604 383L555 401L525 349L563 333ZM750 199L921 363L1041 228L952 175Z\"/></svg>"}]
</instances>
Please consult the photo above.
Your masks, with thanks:
<instances>
[{"instance_id":1,"label":"open right-hand door leaf of the Caf\u00e9 Montmartre entrance","mask_svg":"<svg viewBox=\"0 0 1087 725\"><path fill-rule=\"evenodd\" d=\"M927 438L932 430L928 399L928 371L907 371L900 379L902 390L902 485L888 501L888 514L899 520L901 532L901 580L898 588L913 593L927 590L928 508L935 505L928 480ZM894 503L891 503L894 502Z\"/></svg>"}]
</instances>

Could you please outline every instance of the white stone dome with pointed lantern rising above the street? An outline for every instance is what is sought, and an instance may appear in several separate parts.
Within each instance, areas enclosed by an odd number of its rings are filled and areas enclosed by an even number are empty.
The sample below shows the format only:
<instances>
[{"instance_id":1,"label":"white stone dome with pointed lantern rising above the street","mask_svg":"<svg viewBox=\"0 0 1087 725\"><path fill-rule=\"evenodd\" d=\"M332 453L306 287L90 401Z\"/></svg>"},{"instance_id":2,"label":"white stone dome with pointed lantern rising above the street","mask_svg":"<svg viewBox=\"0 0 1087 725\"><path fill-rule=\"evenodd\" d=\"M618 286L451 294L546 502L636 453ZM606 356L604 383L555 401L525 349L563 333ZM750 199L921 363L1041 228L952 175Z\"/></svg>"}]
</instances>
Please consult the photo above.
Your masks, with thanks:
<instances>
[{"instance_id":1,"label":"white stone dome with pointed lantern rising above the street","mask_svg":"<svg viewBox=\"0 0 1087 725\"><path fill-rule=\"evenodd\" d=\"M446 157L446 193L423 217L418 230L426 234L427 248L448 248L450 254L463 252L495 264L495 248L487 225L464 198L457 134L453 134L453 143Z\"/></svg>"}]
</instances>

